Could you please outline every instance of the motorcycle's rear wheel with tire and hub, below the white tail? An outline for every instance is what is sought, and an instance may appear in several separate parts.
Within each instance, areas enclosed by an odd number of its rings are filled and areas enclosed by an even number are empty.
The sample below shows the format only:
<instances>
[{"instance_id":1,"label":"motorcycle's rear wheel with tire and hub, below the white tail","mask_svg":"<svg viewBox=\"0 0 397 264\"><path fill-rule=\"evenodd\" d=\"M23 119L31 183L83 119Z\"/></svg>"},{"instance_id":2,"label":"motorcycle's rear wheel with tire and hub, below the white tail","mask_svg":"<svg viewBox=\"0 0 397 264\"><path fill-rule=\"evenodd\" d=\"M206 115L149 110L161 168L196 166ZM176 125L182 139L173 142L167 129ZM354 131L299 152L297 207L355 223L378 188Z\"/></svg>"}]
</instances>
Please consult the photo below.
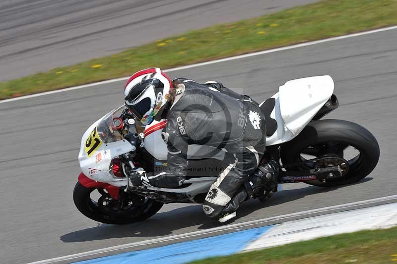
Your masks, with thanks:
<instances>
[{"instance_id":1,"label":"motorcycle's rear wheel with tire and hub, below the white tail","mask_svg":"<svg viewBox=\"0 0 397 264\"><path fill-rule=\"evenodd\" d=\"M379 144L371 132L352 122L331 119L310 122L298 136L281 145L280 149L284 165L327 156L343 158L348 162L347 166L343 163L332 164L332 159L329 159L330 164L323 164L323 167L339 165L342 177L326 182L306 182L320 187L336 187L360 181L376 167L379 155ZM308 162L287 170L303 171L315 167L318 167L317 163Z\"/></svg>"}]
</instances>

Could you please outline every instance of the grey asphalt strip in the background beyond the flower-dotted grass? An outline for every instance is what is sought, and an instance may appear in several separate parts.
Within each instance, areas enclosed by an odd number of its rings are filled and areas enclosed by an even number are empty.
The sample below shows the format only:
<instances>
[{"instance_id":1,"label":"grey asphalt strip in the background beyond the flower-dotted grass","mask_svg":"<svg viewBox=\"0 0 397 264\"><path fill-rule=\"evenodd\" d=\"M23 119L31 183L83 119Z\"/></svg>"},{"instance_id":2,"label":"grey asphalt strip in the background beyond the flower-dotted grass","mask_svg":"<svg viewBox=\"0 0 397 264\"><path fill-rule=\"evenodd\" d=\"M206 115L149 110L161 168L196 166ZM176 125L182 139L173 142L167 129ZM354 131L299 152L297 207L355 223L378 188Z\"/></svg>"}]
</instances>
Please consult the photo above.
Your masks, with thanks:
<instances>
[{"instance_id":1,"label":"grey asphalt strip in the background beyond the flower-dotted grass","mask_svg":"<svg viewBox=\"0 0 397 264\"><path fill-rule=\"evenodd\" d=\"M316 0L0 0L0 81Z\"/></svg>"}]
</instances>

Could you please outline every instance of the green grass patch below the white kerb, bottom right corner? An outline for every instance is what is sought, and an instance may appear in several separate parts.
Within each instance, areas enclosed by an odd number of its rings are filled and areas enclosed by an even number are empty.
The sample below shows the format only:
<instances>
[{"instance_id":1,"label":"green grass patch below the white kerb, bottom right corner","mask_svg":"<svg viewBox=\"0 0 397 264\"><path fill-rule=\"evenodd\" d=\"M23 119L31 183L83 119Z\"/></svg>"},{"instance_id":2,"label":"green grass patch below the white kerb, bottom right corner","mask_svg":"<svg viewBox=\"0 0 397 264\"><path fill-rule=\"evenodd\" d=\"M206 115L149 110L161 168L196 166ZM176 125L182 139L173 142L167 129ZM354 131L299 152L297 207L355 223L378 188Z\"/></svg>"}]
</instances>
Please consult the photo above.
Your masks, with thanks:
<instances>
[{"instance_id":1,"label":"green grass patch below the white kerb, bottom right corner","mask_svg":"<svg viewBox=\"0 0 397 264\"><path fill-rule=\"evenodd\" d=\"M397 263L397 227L335 235L192 264Z\"/></svg>"}]
</instances>

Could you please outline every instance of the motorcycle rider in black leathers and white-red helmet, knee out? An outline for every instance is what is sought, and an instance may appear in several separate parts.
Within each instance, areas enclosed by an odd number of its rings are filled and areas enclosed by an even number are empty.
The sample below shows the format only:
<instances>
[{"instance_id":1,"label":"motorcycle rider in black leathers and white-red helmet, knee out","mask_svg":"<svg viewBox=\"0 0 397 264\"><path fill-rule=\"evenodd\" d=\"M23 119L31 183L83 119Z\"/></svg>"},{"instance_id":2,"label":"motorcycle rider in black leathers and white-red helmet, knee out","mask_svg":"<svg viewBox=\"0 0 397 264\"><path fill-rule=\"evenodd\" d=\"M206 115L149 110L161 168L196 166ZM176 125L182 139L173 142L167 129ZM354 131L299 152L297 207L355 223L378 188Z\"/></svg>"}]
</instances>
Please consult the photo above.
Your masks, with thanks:
<instances>
[{"instance_id":1,"label":"motorcycle rider in black leathers and white-red helmet, knee out","mask_svg":"<svg viewBox=\"0 0 397 264\"><path fill-rule=\"evenodd\" d=\"M163 133L168 146L166 172L156 175L142 168L132 169L132 185L178 188L187 174L188 145L199 144L220 148L233 156L205 197L203 210L208 217L220 222L235 217L240 203L258 190L258 185L268 193L276 192L278 164L263 161L264 114L249 96L220 82L199 84L186 78L171 81L159 68L148 68L130 77L124 99L143 125L167 120ZM249 178L257 168L259 177Z\"/></svg>"}]
</instances>

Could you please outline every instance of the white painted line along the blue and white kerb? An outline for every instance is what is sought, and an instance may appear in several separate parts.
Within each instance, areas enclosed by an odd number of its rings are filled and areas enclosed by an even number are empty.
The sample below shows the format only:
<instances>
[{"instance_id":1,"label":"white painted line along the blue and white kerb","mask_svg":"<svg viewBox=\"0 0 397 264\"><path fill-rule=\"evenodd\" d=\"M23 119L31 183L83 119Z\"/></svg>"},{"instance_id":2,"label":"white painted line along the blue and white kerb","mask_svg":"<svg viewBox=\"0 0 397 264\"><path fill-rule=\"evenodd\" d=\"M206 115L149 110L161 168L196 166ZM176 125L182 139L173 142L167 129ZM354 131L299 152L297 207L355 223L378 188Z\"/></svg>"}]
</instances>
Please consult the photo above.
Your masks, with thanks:
<instances>
[{"instance_id":1,"label":"white painted line along the blue and white kerb","mask_svg":"<svg viewBox=\"0 0 397 264\"><path fill-rule=\"evenodd\" d=\"M255 225L255 224L261 224L261 223L270 222L270 221L280 221L280 220L288 219L291 217L310 216L312 214L326 213L328 211L338 210L338 209L349 210L349 208L353 208L355 206L371 205L374 203L390 201L390 200L394 200L394 199L397 199L397 195L369 199L369 200L363 200L363 201L350 202L350 203L339 204L339 205L333 205L333 206L328 206L328 207L324 207L324 208L312 209L312 210L284 214L284 215L279 215L279 216L273 216L273 217L269 217L269 218L263 218L263 219L252 220L252 221L247 221L247 222L243 222L243 223L219 226L219 227L214 227L214 228L209 228L209 229L205 229L205 230L199 230L199 231L194 231L194 232L189 232L189 233L179 234L179 235L174 235L174 236L167 236L167 237L162 237L162 238L149 239L149 240L145 240L145 241L138 241L138 242L133 242L133 243L129 243L129 244L109 247L109 248L103 248L103 249L97 249L97 250L87 251L87 252L83 252L83 253L67 255L67 256L58 257L58 258L54 258L54 259L32 262L29 264L47 264L47 263L56 263L56 262L61 262L61 261L69 261L69 260L73 260L73 259L77 259L77 258L88 257L88 256L96 255L96 254L102 254L102 253L107 253L107 252L112 252L112 251L117 251L117 250L122 250L122 249L128 249L128 248L133 248L133 247L137 247L137 246L151 245L151 244L156 244L156 243L160 243L160 242L173 241L173 240L189 238L189 237L196 237L199 235L211 234L211 233L216 233L216 232L220 232L220 231L236 229L236 228L251 226L251 225Z\"/></svg>"}]
</instances>

